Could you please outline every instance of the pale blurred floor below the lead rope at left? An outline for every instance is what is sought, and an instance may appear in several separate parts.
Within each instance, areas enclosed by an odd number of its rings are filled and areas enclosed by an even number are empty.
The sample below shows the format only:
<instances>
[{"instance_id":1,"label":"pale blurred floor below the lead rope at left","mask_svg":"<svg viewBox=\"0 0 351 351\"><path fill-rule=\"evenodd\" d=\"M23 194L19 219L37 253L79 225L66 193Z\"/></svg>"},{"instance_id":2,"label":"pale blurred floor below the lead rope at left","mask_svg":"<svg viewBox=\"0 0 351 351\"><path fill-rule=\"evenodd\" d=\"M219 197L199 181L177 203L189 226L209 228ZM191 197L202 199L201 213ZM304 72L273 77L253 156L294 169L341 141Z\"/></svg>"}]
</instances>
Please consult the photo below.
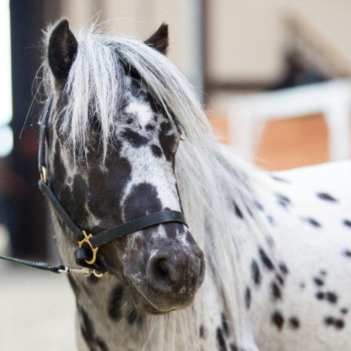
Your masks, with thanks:
<instances>
[{"instance_id":1,"label":"pale blurred floor below the lead rope at left","mask_svg":"<svg viewBox=\"0 0 351 351\"><path fill-rule=\"evenodd\" d=\"M0 262L0 351L74 351L75 299L68 279Z\"/></svg>"}]
</instances>

